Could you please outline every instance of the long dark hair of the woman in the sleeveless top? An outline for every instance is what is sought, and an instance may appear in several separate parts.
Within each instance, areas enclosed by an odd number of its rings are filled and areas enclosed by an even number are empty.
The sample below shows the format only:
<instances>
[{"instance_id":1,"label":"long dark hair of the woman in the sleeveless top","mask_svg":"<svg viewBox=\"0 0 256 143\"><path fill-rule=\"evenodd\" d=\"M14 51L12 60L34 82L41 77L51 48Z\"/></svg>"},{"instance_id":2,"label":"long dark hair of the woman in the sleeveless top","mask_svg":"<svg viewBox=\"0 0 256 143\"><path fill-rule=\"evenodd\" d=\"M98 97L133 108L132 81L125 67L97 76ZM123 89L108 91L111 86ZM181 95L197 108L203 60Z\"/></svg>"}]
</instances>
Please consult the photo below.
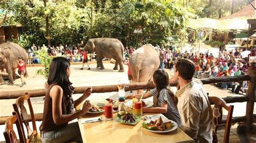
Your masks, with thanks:
<instances>
[{"instance_id":1,"label":"long dark hair of the woman in the sleeveless top","mask_svg":"<svg viewBox=\"0 0 256 143\"><path fill-rule=\"evenodd\" d=\"M70 67L70 62L64 57L53 58L50 65L48 75L48 85L57 84L63 89L64 95L71 95L74 88L69 81L67 68Z\"/></svg>"}]
</instances>

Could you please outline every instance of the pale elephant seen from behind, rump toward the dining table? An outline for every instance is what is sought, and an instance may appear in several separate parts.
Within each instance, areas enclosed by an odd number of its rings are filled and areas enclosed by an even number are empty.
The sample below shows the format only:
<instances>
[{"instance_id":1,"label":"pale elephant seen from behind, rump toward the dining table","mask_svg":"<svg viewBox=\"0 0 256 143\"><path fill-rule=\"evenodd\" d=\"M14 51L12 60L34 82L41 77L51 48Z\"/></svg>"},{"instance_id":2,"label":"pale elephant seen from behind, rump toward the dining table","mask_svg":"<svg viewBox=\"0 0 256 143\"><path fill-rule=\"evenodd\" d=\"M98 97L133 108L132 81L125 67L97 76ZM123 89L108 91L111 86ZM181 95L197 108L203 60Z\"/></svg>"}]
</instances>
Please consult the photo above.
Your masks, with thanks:
<instances>
[{"instance_id":1,"label":"pale elephant seen from behind, rump toward the dining table","mask_svg":"<svg viewBox=\"0 0 256 143\"><path fill-rule=\"evenodd\" d=\"M159 53L151 44L146 44L132 53L129 63L134 82L152 81L154 71L160 65ZM137 94L142 92L138 90Z\"/></svg>"}]
</instances>

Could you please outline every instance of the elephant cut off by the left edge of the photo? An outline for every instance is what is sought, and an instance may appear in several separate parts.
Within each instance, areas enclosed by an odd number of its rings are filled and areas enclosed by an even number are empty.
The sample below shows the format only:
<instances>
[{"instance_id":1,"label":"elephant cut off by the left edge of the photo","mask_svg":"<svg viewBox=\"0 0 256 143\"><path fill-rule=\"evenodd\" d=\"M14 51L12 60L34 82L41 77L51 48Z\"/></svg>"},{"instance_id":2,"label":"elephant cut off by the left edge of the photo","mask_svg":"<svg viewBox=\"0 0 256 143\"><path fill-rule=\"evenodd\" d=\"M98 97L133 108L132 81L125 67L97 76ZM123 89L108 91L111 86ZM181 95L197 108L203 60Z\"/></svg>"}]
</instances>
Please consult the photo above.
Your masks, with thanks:
<instances>
[{"instance_id":1,"label":"elephant cut off by the left edge of the photo","mask_svg":"<svg viewBox=\"0 0 256 143\"><path fill-rule=\"evenodd\" d=\"M18 68L18 57L22 56L25 61L26 70L26 51L24 48L15 44L14 42L5 42L0 45L0 73L7 70L8 73L8 85L14 84L15 70ZM25 71L25 77L28 77L28 72ZM3 77L0 75L0 85L4 83Z\"/></svg>"}]
</instances>

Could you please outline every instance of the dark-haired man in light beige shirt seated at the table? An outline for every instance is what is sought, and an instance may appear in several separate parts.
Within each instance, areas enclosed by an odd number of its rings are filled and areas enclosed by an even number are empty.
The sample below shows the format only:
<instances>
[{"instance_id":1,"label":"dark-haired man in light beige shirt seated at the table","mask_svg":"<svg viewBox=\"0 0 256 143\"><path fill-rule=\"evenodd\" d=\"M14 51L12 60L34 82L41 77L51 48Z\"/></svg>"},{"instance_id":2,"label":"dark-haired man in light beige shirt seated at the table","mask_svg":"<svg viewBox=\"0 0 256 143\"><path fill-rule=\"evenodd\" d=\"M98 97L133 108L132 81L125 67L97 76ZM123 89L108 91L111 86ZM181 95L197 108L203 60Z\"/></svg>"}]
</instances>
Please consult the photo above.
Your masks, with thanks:
<instances>
[{"instance_id":1,"label":"dark-haired man in light beige shirt seated at the table","mask_svg":"<svg viewBox=\"0 0 256 143\"><path fill-rule=\"evenodd\" d=\"M181 130L196 142L212 142L213 113L207 93L200 80L192 80L195 65L187 59L180 59L174 66L174 79L180 89L178 110L181 117Z\"/></svg>"}]
</instances>

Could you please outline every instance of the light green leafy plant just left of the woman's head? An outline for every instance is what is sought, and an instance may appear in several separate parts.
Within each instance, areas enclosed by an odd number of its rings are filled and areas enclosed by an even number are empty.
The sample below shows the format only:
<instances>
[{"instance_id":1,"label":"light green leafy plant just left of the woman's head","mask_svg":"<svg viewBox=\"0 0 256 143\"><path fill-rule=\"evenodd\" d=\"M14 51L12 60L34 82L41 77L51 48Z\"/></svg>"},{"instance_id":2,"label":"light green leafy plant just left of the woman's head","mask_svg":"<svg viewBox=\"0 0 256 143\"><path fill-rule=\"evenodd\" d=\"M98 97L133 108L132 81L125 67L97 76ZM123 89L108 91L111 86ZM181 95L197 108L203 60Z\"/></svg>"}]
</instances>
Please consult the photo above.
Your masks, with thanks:
<instances>
[{"instance_id":1,"label":"light green leafy plant just left of the woman's head","mask_svg":"<svg viewBox=\"0 0 256 143\"><path fill-rule=\"evenodd\" d=\"M37 52L36 54L43 66L42 69L36 70L36 75L43 75L45 78L47 78L49 75L50 63L53 58L48 55L46 49L44 48L41 51Z\"/></svg>"}]
</instances>

